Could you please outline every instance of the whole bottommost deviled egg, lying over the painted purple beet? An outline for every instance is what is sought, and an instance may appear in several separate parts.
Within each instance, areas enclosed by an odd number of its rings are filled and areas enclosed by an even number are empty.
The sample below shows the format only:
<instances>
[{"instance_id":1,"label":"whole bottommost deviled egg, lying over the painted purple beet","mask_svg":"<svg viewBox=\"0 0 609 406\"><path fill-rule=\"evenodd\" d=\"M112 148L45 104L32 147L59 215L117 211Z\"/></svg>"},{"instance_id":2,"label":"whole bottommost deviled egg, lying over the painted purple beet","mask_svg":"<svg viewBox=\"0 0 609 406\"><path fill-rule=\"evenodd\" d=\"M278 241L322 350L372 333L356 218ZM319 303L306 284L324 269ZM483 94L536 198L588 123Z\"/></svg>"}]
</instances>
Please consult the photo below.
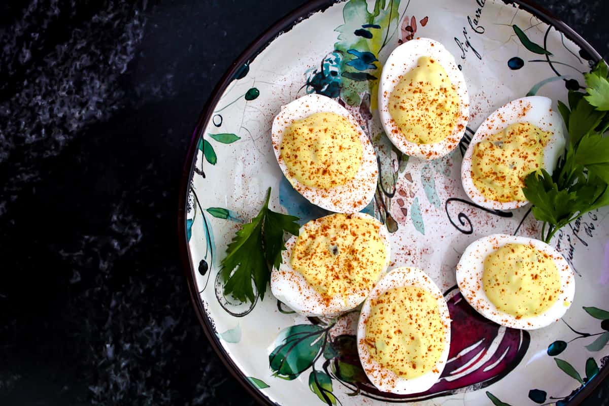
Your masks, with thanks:
<instances>
[{"instance_id":1,"label":"whole bottommost deviled egg, lying over the painted purple beet","mask_svg":"<svg viewBox=\"0 0 609 406\"><path fill-rule=\"evenodd\" d=\"M362 306L357 351L379 390L428 390L442 374L451 340L450 315L437 285L418 268L395 268Z\"/></svg>"}]
</instances>

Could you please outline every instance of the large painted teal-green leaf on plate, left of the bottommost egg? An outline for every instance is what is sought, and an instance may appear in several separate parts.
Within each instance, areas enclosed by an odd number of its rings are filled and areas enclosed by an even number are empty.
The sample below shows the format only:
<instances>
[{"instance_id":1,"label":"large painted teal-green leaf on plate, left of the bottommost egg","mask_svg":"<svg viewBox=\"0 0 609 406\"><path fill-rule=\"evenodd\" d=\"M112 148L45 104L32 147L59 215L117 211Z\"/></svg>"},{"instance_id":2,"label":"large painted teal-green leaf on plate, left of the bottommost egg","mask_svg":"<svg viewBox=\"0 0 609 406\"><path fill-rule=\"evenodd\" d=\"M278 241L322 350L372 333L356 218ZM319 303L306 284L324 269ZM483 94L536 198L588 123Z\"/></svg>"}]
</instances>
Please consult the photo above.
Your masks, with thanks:
<instances>
[{"instance_id":1,"label":"large painted teal-green leaf on plate, left of the bottommost egg","mask_svg":"<svg viewBox=\"0 0 609 406\"><path fill-rule=\"evenodd\" d=\"M273 375L286 380L296 379L311 368L323 344L325 330L313 324L287 327L275 339L275 349L269 355Z\"/></svg>"}]
</instances>

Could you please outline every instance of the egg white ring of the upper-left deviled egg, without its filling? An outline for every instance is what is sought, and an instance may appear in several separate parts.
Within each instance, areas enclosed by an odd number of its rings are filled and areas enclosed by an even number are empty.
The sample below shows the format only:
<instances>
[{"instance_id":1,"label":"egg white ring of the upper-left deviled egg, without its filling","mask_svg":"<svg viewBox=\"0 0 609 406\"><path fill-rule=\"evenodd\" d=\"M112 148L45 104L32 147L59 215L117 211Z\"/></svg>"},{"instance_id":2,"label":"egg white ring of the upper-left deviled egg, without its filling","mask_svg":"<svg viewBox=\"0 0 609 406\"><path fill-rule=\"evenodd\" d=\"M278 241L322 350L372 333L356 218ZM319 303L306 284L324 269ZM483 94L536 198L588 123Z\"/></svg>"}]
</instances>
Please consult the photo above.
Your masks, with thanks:
<instances>
[{"instance_id":1,"label":"egg white ring of the upper-left deviled egg, without its filling","mask_svg":"<svg viewBox=\"0 0 609 406\"><path fill-rule=\"evenodd\" d=\"M286 130L294 124L294 121L304 119L314 113L336 113L347 118L357 129L359 141L362 143L362 163L355 177L332 189L317 189L317 187L306 186L291 177L281 156L280 145ZM311 203L320 206L320 208L339 213L355 213L363 210L370 203L375 194L378 178L375 149L364 130L357 124L349 111L334 99L320 94L307 94L288 103L281 108L280 113L273 119L271 132L273 152L275 152L275 158L279 163L281 172L294 189Z\"/></svg>"}]
</instances>

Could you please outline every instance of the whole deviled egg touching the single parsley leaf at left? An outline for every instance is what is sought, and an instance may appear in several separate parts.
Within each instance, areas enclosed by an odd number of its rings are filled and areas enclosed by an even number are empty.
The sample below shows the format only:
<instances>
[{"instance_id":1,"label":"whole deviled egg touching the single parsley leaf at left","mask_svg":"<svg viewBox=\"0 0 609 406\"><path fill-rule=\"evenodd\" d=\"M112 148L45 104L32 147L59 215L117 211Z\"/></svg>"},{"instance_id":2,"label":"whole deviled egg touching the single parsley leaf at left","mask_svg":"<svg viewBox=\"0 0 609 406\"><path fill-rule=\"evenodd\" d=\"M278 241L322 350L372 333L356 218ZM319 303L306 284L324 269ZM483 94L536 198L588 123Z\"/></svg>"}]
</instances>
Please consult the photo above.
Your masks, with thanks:
<instances>
[{"instance_id":1,"label":"whole deviled egg touching the single parsley leaf at left","mask_svg":"<svg viewBox=\"0 0 609 406\"><path fill-rule=\"evenodd\" d=\"M311 220L286 242L270 288L305 316L333 317L364 301L389 265L387 228L368 214Z\"/></svg>"}]
</instances>

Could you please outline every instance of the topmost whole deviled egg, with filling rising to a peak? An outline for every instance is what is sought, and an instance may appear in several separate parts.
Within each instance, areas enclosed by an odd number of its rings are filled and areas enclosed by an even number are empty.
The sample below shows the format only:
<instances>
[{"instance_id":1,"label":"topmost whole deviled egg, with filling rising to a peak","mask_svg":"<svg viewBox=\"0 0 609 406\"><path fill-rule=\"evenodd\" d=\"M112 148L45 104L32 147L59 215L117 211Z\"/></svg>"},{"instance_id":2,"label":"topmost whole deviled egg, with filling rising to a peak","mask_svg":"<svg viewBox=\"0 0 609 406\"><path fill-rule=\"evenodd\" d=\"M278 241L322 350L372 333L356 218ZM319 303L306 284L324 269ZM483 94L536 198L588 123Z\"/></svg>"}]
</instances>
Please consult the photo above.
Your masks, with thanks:
<instances>
[{"instance_id":1,"label":"topmost whole deviled egg, with filling rising to a peak","mask_svg":"<svg viewBox=\"0 0 609 406\"><path fill-rule=\"evenodd\" d=\"M379 114L389 139L406 155L435 159L456 149L470 98L454 57L418 38L393 50L382 69Z\"/></svg>"}]
</instances>

